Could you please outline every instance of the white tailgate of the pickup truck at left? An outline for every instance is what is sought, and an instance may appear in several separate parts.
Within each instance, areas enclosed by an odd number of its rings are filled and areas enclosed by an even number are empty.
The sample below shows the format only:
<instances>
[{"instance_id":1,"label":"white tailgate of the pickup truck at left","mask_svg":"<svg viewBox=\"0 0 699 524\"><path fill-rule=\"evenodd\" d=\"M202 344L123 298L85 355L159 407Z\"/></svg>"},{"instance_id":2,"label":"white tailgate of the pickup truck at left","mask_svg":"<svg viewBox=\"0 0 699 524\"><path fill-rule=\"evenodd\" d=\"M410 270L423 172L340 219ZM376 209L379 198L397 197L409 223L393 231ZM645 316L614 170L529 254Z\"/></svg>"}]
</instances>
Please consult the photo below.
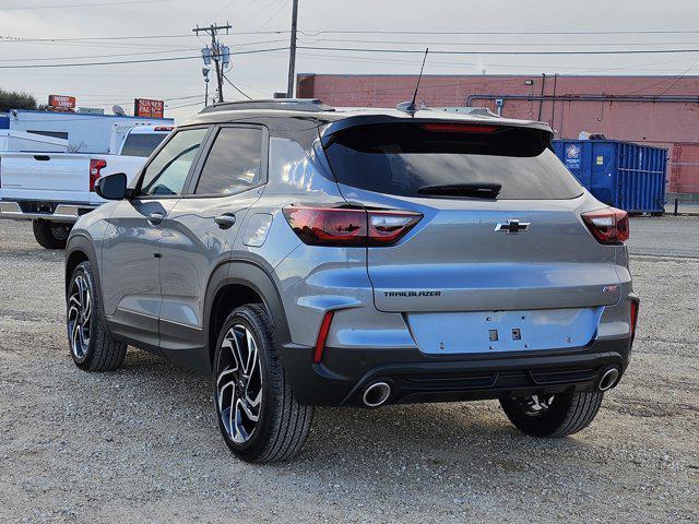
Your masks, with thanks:
<instances>
[{"instance_id":1,"label":"white tailgate of the pickup truck at left","mask_svg":"<svg viewBox=\"0 0 699 524\"><path fill-rule=\"evenodd\" d=\"M2 153L3 200L90 201L90 156L73 153Z\"/></svg>"}]
</instances>

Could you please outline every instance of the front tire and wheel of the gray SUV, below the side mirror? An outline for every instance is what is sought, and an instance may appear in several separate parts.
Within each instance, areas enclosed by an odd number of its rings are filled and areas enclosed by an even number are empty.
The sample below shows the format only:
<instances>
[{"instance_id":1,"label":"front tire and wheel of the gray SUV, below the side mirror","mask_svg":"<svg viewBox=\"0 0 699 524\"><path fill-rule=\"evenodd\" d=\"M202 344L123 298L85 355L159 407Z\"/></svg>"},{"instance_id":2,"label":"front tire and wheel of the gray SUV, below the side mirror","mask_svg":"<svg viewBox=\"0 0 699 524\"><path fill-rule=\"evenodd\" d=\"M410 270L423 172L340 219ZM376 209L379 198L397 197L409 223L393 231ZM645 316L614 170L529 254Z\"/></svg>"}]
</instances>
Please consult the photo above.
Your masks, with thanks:
<instances>
[{"instance_id":1,"label":"front tire and wheel of the gray SUV, below the side mirror","mask_svg":"<svg viewBox=\"0 0 699 524\"><path fill-rule=\"evenodd\" d=\"M127 345L111 338L106 330L102 297L90 262L79 264L71 275L66 325L70 353L80 369L111 371L121 366Z\"/></svg>"}]
</instances>

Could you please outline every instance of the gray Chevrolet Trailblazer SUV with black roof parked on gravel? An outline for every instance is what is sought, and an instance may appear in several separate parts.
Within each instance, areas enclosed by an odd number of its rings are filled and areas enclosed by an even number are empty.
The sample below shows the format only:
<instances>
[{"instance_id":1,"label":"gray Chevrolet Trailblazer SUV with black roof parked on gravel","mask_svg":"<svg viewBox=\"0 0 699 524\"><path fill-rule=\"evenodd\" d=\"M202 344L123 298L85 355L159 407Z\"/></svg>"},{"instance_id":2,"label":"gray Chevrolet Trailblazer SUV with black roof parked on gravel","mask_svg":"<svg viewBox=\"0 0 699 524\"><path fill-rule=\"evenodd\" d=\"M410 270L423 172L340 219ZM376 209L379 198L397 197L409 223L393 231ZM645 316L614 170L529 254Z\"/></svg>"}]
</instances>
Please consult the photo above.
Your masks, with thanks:
<instances>
[{"instance_id":1,"label":"gray Chevrolet Trailblazer SUV with black roof parked on gravel","mask_svg":"<svg viewBox=\"0 0 699 524\"><path fill-rule=\"evenodd\" d=\"M541 122L319 100L182 123L67 247L84 370L132 345L213 376L245 461L294 456L313 406L497 398L524 433L587 427L629 361L625 212Z\"/></svg>"}]
</instances>

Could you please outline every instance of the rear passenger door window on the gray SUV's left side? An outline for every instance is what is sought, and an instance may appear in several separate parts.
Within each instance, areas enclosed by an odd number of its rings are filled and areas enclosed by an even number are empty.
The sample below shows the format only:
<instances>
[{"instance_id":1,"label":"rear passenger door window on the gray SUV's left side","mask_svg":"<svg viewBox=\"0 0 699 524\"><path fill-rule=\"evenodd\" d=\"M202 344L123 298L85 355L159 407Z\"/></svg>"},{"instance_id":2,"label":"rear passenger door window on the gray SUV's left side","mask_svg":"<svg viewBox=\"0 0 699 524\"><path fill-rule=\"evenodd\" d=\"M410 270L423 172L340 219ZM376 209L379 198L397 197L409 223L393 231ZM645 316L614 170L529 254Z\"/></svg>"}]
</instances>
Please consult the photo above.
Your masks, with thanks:
<instances>
[{"instance_id":1,"label":"rear passenger door window on the gray SUV's left side","mask_svg":"<svg viewBox=\"0 0 699 524\"><path fill-rule=\"evenodd\" d=\"M223 128L199 177L196 194L234 194L260 183L262 130Z\"/></svg>"}]
</instances>

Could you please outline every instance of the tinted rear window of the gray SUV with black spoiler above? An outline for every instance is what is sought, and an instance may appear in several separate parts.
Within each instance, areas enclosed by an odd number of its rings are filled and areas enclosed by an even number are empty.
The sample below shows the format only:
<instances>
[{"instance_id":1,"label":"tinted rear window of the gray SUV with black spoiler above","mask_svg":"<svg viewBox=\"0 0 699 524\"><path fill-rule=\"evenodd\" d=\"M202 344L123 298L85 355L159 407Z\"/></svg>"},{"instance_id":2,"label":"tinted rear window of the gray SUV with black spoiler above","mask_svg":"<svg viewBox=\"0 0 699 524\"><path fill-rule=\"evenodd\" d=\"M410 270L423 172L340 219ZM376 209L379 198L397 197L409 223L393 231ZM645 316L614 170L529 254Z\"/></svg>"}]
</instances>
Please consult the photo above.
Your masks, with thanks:
<instances>
[{"instance_id":1,"label":"tinted rear window of the gray SUV with black spoiler above","mask_svg":"<svg viewBox=\"0 0 699 524\"><path fill-rule=\"evenodd\" d=\"M379 193L470 198L425 194L420 188L481 183L501 186L499 200L582 193L548 148L548 136L535 129L455 122L359 126L333 134L325 150L340 183Z\"/></svg>"}]
</instances>

